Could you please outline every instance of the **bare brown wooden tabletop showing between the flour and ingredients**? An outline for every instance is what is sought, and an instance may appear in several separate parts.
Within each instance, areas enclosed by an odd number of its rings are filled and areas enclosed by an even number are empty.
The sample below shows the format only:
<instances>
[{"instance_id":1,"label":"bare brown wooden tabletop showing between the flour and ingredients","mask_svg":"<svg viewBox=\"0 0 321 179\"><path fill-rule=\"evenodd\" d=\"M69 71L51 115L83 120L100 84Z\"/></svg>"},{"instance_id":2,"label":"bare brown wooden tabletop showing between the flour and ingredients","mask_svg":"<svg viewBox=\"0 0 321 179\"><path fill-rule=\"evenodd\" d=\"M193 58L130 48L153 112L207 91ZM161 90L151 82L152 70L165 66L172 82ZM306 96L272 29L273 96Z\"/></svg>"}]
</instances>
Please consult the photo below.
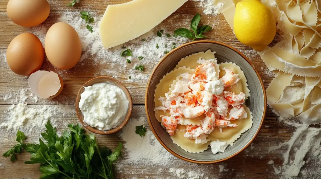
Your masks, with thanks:
<instances>
[{"instance_id":1,"label":"bare brown wooden tabletop showing between the flour and ingredients","mask_svg":"<svg viewBox=\"0 0 321 179\"><path fill-rule=\"evenodd\" d=\"M54 21L56 16L59 17L60 14L65 11L92 11L96 15L102 15L109 4L120 4L125 3L130 0L81 0L80 3L76 4L74 7L66 7L66 4L69 4L71 0L49 0L51 12L50 17L46 22ZM8 19L6 14L6 5L8 0L0 1L0 123L6 120L5 111L8 110L9 106L12 103L10 100L4 100L4 95L12 94L11 99L19 98L19 92L21 89L28 88L28 78L22 77L14 74L5 63L3 54L6 51L10 41L18 34L26 32L29 30L27 27L21 27L14 24L10 19ZM229 25L225 21L223 15L205 15L202 8L199 7L199 2L189 0L182 7L180 7L174 14L169 18L164 20L161 25L166 27L168 31L174 31L178 27L187 27L190 23L190 20L196 13L201 13L202 22L210 25L214 25L213 30L207 33L208 37L206 40L214 40L226 43L234 48L237 48L242 53L244 53L253 63L256 70L259 71L261 77L265 82L267 87L271 81L271 76L265 74L266 66L261 60L260 56L256 54L252 48L242 45ZM171 23L170 20L174 16L181 17L176 23ZM99 21L99 20L97 20ZM152 57L146 57L152 58ZM160 60L160 59L158 59ZM94 66L92 66L94 65ZM145 65L144 75L150 75L155 64ZM50 64L48 61L45 61L42 69L49 70ZM57 103L70 104L74 106L74 101L76 94L80 87L89 79L97 76L97 71L99 70L112 70L120 71L118 79L121 80L125 86L128 87L134 103L133 115L132 118L139 118L141 116L146 117L144 110L144 93L146 89L147 80L138 80L134 82L127 82L128 73L117 68L122 68L121 66L110 68L107 62L104 64L91 64L88 63L88 66L77 67L71 70L68 70L64 73L63 79L65 82L65 87L63 92L53 100L38 100L35 102L28 99L26 102L30 105L56 105ZM65 115L65 116L55 116L57 119L56 123L77 123L77 117L75 114ZM145 126L147 130L150 130L147 120L145 121ZM4 130L4 129L0 129ZM62 129L59 129L62 130ZM120 172L115 169L116 178L175 178L173 172L170 172L170 168L184 168L185 171L194 171L202 170L204 171L204 177L208 178L277 178L274 173L272 165L268 164L268 161L274 160L276 166L282 165L282 152L285 149L279 149L277 152L268 152L268 147L270 145L277 145L282 142L288 141L291 138L293 131L295 129L290 128L287 125L277 121L276 116L272 113L272 110L268 108L267 115L263 128L260 133L254 140L251 147L247 148L245 151L237 155L236 157L221 162L219 164L211 165L201 165L193 164L177 158L173 158L172 161L168 162L167 165L157 165L157 164L146 164L142 161L140 163L133 163L130 160L124 160L122 163L122 171ZM2 132L3 134L3 132ZM39 136L28 136L30 138L38 138ZM96 135L100 145L107 145L113 149L118 142L122 141L117 135ZM31 139L26 141L30 142ZM0 153L4 153L11 146L16 144L15 137L12 135L1 136L0 139ZM124 143L126 145L126 143ZM126 153L126 151L124 151ZM4 158L0 156L0 178L38 178L40 175L39 165L26 165L23 164L23 161L30 159L29 153L22 153L17 156L18 160L15 162L10 162L9 158ZM218 165L223 165L228 171L219 172ZM117 167L116 167L117 168ZM158 169L162 168L162 172L159 173ZM143 172L142 172L143 171Z\"/></svg>"}]
</instances>

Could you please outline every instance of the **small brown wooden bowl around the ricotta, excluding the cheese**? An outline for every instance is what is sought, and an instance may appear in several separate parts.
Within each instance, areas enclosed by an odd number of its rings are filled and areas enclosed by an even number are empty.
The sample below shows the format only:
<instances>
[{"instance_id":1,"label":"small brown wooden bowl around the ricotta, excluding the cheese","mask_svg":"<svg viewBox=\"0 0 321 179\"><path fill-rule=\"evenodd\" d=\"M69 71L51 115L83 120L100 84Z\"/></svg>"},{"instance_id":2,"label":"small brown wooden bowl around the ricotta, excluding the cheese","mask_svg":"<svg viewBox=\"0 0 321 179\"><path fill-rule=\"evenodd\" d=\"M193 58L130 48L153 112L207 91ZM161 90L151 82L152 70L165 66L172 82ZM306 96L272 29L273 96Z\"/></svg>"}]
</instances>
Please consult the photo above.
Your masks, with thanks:
<instances>
[{"instance_id":1,"label":"small brown wooden bowl around the ricotta, excluding the cheese","mask_svg":"<svg viewBox=\"0 0 321 179\"><path fill-rule=\"evenodd\" d=\"M127 115L124 119L124 121L122 123L120 123L117 127L110 129L110 130L99 130L97 128L91 127L90 125L88 125L87 123L84 122L84 118L82 115L82 112L79 108L79 101L80 101L80 94L85 90L84 87L85 86L92 86L93 84L96 83L108 83L114 86L119 87L121 90L124 91L124 93L126 94L127 100L128 100L128 109L127 109ZM133 111L133 102L132 102L132 97L128 91L128 89L126 88L126 86L124 86L120 81L118 81L115 78L111 78L111 77L107 77L107 76L100 76L100 77L96 77L96 78L92 78L91 80L89 80L88 82L86 82L84 85L82 85L82 87L80 88L80 90L78 91L77 97L76 97L76 113L78 116L79 121L82 123L82 125L88 129L89 131L96 133L96 134L103 134L103 135L107 135L107 134L113 134L118 132L119 130L121 130L126 123L129 121L130 116L132 115L132 111Z\"/></svg>"}]
</instances>

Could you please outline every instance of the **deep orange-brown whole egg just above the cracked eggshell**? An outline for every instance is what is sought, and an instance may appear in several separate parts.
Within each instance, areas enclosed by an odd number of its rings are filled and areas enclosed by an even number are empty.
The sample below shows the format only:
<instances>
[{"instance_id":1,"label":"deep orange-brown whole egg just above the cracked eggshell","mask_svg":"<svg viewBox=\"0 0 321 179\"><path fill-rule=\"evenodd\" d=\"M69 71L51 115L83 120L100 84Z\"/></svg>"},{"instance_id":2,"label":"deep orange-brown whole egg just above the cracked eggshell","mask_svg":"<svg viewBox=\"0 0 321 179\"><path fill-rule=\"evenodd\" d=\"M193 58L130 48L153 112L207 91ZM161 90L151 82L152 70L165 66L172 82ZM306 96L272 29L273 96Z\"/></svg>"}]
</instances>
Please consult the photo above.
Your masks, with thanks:
<instances>
[{"instance_id":1,"label":"deep orange-brown whole egg just above the cracked eggshell","mask_svg":"<svg viewBox=\"0 0 321 179\"><path fill-rule=\"evenodd\" d=\"M44 50L42 43L34 34L20 34L10 42L6 59L13 72L28 76L38 71L43 63Z\"/></svg>"}]
</instances>

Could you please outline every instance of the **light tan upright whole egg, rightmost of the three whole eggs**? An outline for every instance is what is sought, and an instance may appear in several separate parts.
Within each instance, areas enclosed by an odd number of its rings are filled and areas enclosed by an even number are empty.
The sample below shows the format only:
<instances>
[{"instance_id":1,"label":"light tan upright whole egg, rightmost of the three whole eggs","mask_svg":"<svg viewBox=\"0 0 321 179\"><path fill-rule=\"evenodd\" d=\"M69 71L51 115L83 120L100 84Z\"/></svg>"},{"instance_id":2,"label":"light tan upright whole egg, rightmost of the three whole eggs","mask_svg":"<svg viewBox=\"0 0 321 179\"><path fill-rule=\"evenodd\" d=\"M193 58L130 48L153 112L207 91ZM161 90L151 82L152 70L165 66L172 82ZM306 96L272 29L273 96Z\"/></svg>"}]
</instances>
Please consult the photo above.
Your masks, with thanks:
<instances>
[{"instance_id":1,"label":"light tan upright whole egg, rightmost of the three whole eggs","mask_svg":"<svg viewBox=\"0 0 321 179\"><path fill-rule=\"evenodd\" d=\"M72 26L58 22L52 25L46 34L45 51L52 65L67 70L73 68L80 59L81 41Z\"/></svg>"}]
</instances>

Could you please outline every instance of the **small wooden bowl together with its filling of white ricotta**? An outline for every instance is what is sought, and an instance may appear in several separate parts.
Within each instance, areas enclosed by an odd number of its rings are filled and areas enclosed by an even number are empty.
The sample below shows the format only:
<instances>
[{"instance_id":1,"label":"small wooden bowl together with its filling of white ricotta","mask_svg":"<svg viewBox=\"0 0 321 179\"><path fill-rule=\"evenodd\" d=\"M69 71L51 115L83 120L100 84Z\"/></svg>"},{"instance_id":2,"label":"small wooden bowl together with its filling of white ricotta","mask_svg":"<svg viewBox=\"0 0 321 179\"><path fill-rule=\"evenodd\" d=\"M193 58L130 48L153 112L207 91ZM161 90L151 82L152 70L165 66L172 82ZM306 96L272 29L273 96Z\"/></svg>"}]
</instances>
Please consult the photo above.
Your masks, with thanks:
<instances>
[{"instance_id":1,"label":"small wooden bowl together with its filling of white ricotta","mask_svg":"<svg viewBox=\"0 0 321 179\"><path fill-rule=\"evenodd\" d=\"M129 121L132 97L115 78L100 76L86 82L78 91L76 113L79 121L96 134L113 134Z\"/></svg>"}]
</instances>

